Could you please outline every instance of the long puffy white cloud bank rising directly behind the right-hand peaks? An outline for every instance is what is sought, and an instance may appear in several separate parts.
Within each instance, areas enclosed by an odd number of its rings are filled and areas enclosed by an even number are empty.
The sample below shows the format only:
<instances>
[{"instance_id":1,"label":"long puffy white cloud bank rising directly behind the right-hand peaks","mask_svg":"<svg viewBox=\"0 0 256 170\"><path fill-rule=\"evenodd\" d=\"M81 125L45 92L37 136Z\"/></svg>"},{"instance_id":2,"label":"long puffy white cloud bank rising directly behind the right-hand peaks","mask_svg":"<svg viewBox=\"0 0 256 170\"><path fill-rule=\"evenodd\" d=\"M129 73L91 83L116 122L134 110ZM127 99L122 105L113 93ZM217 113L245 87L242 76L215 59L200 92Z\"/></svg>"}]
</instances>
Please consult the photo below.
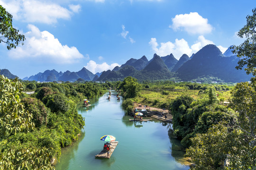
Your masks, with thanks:
<instances>
[{"instance_id":1,"label":"long puffy white cloud bank rising directly behind the right-hand peaks","mask_svg":"<svg viewBox=\"0 0 256 170\"><path fill-rule=\"evenodd\" d=\"M191 56L192 53L196 53L197 51L201 50L204 46L208 44L214 44L214 42L207 40L204 38L203 35L200 35L194 44L191 47L188 45L184 39L178 40L175 39L175 42L161 42L160 46L156 41L156 38L151 38L150 42L148 42L151 46L152 50L158 54L159 56L166 56L173 53L176 59L179 59L183 54L187 54ZM218 46L219 50L223 53L228 48Z\"/></svg>"}]
</instances>

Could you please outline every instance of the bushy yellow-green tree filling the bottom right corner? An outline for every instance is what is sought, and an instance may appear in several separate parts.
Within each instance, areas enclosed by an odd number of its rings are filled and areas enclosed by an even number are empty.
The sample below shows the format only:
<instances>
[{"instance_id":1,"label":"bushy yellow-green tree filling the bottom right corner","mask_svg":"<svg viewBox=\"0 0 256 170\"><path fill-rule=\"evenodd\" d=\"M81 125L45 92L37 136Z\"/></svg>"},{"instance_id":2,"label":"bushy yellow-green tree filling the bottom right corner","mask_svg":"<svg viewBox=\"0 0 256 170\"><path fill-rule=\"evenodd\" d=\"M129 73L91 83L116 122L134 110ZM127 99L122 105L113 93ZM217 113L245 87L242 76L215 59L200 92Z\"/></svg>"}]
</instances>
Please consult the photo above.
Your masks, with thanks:
<instances>
[{"instance_id":1,"label":"bushy yellow-green tree filling the bottom right corner","mask_svg":"<svg viewBox=\"0 0 256 170\"><path fill-rule=\"evenodd\" d=\"M191 157L192 170L252 170L256 167L256 147L234 127L214 125L205 134L197 134L185 156ZM224 162L226 166L224 167Z\"/></svg>"}]
</instances>

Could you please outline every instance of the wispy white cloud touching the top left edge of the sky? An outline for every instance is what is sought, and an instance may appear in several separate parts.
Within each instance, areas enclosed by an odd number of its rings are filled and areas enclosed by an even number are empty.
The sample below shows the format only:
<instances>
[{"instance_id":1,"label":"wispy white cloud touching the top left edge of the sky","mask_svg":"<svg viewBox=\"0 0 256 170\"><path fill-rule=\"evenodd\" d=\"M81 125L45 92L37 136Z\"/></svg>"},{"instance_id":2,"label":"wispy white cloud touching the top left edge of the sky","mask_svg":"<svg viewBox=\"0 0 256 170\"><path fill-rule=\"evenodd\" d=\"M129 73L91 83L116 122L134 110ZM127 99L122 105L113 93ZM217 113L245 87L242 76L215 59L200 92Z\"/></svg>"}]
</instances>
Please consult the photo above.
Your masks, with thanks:
<instances>
[{"instance_id":1,"label":"wispy white cloud touching the top left edge of the sky","mask_svg":"<svg viewBox=\"0 0 256 170\"><path fill-rule=\"evenodd\" d=\"M52 1L39 0L0 0L0 4L7 9L14 19L24 22L54 24L58 19L70 19L73 12L81 9L80 5L69 5L69 9Z\"/></svg>"}]
</instances>

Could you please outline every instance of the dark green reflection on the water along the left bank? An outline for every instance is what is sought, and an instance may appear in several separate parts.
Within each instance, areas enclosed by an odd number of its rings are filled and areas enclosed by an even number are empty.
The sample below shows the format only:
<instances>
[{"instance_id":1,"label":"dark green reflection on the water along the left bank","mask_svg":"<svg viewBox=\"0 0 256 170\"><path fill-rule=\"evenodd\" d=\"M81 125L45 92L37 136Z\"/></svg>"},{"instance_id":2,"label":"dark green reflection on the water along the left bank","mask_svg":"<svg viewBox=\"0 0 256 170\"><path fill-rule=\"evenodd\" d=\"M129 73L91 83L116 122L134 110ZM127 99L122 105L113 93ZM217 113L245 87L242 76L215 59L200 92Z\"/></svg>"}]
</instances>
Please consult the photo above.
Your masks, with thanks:
<instances>
[{"instance_id":1,"label":"dark green reflection on the water along the left bank","mask_svg":"<svg viewBox=\"0 0 256 170\"><path fill-rule=\"evenodd\" d=\"M85 132L81 132L77 141L74 141L71 145L66 146L61 149L61 156L65 157L65 160L62 161L62 164L57 164L59 170L65 170L68 167L70 161L75 157L75 154L78 150L79 143L85 136Z\"/></svg>"}]
</instances>

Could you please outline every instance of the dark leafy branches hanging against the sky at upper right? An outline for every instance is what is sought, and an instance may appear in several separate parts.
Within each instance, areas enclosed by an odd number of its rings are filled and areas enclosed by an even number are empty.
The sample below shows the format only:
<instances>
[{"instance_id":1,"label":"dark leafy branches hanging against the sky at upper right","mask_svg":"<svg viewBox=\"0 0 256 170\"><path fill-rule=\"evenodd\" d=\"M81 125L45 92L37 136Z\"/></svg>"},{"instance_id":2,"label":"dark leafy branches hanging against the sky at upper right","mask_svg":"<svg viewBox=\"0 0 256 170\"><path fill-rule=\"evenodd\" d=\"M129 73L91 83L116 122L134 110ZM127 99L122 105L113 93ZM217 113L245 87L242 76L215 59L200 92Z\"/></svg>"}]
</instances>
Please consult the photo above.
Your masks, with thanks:
<instances>
[{"instance_id":1,"label":"dark leafy branches hanging against the sky at upper right","mask_svg":"<svg viewBox=\"0 0 256 170\"><path fill-rule=\"evenodd\" d=\"M241 28L238 32L240 38L246 38L246 40L236 46L232 46L233 53L236 54L240 59L238 61L237 69L242 69L246 66L245 70L247 75L251 74L254 76L251 78L252 82L256 81L256 8L252 10L252 15L247 15L247 24Z\"/></svg>"}]
</instances>

